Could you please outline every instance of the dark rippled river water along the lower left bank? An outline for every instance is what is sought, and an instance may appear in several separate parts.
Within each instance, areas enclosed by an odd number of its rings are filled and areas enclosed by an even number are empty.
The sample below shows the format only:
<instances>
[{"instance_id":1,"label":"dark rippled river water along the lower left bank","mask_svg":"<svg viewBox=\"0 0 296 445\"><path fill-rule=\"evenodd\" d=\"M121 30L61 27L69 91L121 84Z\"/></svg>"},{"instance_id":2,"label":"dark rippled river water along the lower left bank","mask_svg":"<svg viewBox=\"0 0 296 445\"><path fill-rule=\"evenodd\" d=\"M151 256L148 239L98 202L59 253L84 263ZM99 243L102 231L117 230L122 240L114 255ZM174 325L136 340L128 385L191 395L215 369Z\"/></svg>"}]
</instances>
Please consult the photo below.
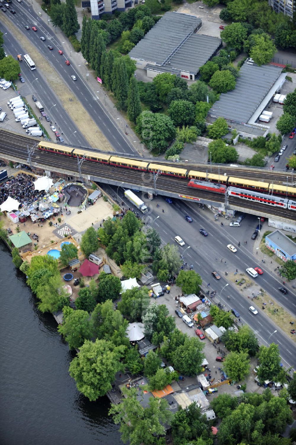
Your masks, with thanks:
<instances>
[{"instance_id":1,"label":"dark rippled river water along the lower left bank","mask_svg":"<svg viewBox=\"0 0 296 445\"><path fill-rule=\"evenodd\" d=\"M89 402L68 368L73 359L53 316L41 314L0 244L0 443L120 445L109 400Z\"/></svg>"}]
</instances>

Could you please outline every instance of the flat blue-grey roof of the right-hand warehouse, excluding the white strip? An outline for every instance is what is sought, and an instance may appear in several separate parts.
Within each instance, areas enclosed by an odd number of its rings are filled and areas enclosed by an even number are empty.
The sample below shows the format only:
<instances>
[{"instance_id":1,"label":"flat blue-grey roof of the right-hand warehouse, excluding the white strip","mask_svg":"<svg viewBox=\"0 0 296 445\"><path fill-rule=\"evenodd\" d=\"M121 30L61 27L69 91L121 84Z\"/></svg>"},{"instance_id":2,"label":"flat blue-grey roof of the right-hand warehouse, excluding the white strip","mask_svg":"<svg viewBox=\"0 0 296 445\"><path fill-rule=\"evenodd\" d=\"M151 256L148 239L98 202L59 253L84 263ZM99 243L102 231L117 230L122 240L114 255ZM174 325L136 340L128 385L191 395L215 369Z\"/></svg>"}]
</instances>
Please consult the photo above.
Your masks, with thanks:
<instances>
[{"instance_id":1,"label":"flat blue-grey roof of the right-hand warehouse, excluding the white strip","mask_svg":"<svg viewBox=\"0 0 296 445\"><path fill-rule=\"evenodd\" d=\"M209 111L212 117L247 123L255 109L280 76L282 68L273 65L247 65L239 71L235 89L222 93Z\"/></svg>"}]
</instances>

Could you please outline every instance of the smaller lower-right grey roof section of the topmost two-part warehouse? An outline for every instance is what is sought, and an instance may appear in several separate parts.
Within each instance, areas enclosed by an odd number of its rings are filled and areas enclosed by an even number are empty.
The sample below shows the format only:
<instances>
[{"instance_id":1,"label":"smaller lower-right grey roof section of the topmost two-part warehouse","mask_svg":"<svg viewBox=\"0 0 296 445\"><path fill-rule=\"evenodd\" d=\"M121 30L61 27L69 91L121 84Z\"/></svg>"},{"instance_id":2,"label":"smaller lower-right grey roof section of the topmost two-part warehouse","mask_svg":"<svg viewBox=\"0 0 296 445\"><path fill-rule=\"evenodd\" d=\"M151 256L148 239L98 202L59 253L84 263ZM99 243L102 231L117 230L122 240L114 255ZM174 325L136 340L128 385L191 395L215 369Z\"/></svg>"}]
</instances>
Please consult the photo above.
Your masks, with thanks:
<instances>
[{"instance_id":1,"label":"smaller lower-right grey roof section of the topmost two-part warehouse","mask_svg":"<svg viewBox=\"0 0 296 445\"><path fill-rule=\"evenodd\" d=\"M218 37L192 34L170 58L170 65L183 71L198 73L199 68L215 54L221 42Z\"/></svg>"}]
</instances>

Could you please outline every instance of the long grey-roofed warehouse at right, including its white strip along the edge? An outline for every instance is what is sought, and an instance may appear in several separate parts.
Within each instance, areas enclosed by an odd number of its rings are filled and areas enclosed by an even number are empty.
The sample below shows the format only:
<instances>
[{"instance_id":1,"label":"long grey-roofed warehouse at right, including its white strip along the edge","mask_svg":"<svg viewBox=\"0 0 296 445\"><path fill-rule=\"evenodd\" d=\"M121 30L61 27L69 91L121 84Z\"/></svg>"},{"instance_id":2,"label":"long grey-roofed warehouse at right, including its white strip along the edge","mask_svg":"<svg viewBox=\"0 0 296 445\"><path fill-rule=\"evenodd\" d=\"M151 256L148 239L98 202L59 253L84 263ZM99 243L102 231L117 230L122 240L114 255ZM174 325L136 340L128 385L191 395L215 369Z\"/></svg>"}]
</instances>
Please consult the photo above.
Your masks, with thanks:
<instances>
[{"instance_id":1,"label":"long grey-roofed warehouse at right, including its white strip along the edge","mask_svg":"<svg viewBox=\"0 0 296 445\"><path fill-rule=\"evenodd\" d=\"M222 93L209 111L212 118L268 129L255 121L284 84L286 75L275 65L250 65L246 61L239 70L235 89ZM246 130L247 131L247 130Z\"/></svg>"}]
</instances>

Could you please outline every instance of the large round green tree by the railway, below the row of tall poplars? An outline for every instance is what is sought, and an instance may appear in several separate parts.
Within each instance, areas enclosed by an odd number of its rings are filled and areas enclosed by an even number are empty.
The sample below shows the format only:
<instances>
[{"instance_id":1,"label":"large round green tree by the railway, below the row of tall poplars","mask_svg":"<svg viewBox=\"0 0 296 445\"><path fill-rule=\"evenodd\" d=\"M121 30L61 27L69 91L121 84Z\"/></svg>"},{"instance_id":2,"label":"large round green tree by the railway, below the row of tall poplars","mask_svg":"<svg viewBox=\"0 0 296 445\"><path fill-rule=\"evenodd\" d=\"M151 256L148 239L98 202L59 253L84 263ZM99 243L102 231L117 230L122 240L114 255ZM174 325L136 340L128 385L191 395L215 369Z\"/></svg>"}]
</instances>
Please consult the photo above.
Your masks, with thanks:
<instances>
[{"instance_id":1,"label":"large round green tree by the railway, below the row of tall poplars","mask_svg":"<svg viewBox=\"0 0 296 445\"><path fill-rule=\"evenodd\" d=\"M157 150L158 153L163 153L174 139L176 129L169 116L142 111L137 119L136 132L145 141L149 150Z\"/></svg>"}]
</instances>

